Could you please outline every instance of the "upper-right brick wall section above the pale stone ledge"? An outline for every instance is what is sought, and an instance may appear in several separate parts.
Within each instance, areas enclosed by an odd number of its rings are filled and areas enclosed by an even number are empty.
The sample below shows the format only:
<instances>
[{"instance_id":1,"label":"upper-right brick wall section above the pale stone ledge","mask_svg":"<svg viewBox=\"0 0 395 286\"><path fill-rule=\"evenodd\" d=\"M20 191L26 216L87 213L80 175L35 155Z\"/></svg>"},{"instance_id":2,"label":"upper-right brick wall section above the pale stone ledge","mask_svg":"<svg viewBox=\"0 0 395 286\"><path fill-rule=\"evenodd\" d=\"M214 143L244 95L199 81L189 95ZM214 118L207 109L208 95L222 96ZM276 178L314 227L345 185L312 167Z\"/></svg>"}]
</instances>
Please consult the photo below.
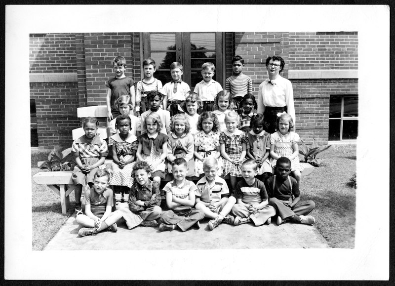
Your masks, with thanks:
<instances>
[{"instance_id":1,"label":"upper-right brick wall section above the pale stone ledge","mask_svg":"<svg viewBox=\"0 0 395 286\"><path fill-rule=\"evenodd\" d=\"M357 32L289 33L291 70L357 69Z\"/></svg>"}]
</instances>

